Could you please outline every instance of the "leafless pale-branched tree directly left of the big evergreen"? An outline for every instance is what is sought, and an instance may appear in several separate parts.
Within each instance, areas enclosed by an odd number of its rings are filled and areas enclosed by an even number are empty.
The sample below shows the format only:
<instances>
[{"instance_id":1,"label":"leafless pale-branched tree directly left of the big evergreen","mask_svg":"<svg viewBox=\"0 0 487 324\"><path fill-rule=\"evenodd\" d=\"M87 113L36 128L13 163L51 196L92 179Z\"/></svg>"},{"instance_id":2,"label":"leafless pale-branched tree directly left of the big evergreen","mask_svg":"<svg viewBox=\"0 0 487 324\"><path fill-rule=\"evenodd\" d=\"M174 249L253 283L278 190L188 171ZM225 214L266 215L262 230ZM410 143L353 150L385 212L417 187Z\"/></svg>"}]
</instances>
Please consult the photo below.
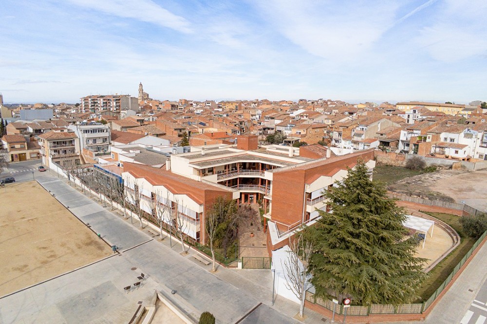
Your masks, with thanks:
<instances>
[{"instance_id":1,"label":"leafless pale-branched tree directly left of the big evergreen","mask_svg":"<svg viewBox=\"0 0 487 324\"><path fill-rule=\"evenodd\" d=\"M302 236L299 235L292 243L291 238L289 238L289 246L291 251L289 251L288 257L284 260L282 268L285 269L286 287L300 300L300 317L302 318L306 290L310 286L308 264L313 252L313 245L310 242L305 242Z\"/></svg>"}]
</instances>

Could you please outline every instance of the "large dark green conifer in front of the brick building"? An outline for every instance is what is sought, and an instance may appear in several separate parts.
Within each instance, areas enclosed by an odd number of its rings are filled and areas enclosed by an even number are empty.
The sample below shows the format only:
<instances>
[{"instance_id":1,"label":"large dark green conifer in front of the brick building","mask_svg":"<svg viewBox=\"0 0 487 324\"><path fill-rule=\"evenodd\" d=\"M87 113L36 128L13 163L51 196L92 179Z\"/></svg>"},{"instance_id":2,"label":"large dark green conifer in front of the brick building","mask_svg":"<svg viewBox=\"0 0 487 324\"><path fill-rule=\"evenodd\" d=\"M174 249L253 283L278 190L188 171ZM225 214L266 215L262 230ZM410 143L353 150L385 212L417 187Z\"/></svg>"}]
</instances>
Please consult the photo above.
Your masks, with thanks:
<instances>
[{"instance_id":1,"label":"large dark green conifer in front of the brick building","mask_svg":"<svg viewBox=\"0 0 487 324\"><path fill-rule=\"evenodd\" d=\"M404 211L372 182L365 162L325 195L333 211L320 211L317 224L303 231L315 247L309 270L318 295L347 296L367 306L415 299L426 260L413 256L417 243L404 239Z\"/></svg>"}]
</instances>

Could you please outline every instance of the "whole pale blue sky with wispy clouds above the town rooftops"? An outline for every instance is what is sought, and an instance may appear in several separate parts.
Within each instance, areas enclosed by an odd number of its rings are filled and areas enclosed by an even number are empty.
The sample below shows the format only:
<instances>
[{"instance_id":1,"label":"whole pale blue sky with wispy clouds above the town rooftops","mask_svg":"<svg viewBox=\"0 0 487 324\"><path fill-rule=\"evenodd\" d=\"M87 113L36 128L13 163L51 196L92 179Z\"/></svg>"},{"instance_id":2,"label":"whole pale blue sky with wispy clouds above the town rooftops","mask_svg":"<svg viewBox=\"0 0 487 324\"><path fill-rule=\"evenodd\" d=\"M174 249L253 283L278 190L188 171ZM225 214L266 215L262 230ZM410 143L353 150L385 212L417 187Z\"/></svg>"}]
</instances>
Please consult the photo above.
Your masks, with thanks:
<instances>
[{"instance_id":1,"label":"whole pale blue sky with wispy clouds above the town rooftops","mask_svg":"<svg viewBox=\"0 0 487 324\"><path fill-rule=\"evenodd\" d=\"M485 0L2 0L9 102L487 100Z\"/></svg>"}]
</instances>

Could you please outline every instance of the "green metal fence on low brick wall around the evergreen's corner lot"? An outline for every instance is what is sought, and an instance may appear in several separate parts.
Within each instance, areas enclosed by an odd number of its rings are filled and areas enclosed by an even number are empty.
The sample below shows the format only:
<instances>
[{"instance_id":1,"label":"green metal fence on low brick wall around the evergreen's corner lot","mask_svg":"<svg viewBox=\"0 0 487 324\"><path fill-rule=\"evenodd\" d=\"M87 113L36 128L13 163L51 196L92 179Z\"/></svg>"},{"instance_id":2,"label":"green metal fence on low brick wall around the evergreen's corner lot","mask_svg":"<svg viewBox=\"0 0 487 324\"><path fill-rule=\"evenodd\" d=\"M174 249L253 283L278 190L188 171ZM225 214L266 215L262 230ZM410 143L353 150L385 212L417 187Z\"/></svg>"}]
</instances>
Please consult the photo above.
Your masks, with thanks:
<instances>
[{"instance_id":1,"label":"green metal fence on low brick wall around the evergreen's corner lot","mask_svg":"<svg viewBox=\"0 0 487 324\"><path fill-rule=\"evenodd\" d=\"M382 304L372 304L371 306L361 306L361 305L352 305L347 310L347 315L352 316L367 316L371 314L421 314L431 306L436 298L440 295L440 293L448 286L450 281L453 279L455 274L462 269L462 267L467 262L468 258L472 255L472 253L477 249L480 243L486 238L487 232L484 232L482 236L473 244L472 248L465 254L463 259L456 265L447 279L436 289L436 291L431 295L428 300L423 303L416 303L416 304L400 304L397 306L394 305L382 305ZM322 299L315 294L306 291L306 300L310 303L322 306L328 310L333 310L335 304L329 299ZM343 305L338 305L336 308L336 314L340 315L343 314Z\"/></svg>"}]
</instances>

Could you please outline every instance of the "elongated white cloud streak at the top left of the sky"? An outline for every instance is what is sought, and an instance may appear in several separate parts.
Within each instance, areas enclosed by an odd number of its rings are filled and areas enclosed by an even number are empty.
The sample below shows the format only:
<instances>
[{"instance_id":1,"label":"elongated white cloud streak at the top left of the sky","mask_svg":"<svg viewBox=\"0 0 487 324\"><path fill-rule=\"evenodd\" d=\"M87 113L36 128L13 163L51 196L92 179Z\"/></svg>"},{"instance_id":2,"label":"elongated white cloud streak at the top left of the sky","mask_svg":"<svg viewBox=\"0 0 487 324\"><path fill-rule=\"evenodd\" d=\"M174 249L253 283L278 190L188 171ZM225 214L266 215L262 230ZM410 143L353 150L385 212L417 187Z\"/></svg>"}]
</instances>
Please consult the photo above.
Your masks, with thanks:
<instances>
[{"instance_id":1,"label":"elongated white cloud streak at the top left of the sky","mask_svg":"<svg viewBox=\"0 0 487 324\"><path fill-rule=\"evenodd\" d=\"M150 22L182 33L192 33L187 19L177 16L151 0L69 0L82 7L123 18Z\"/></svg>"}]
</instances>

